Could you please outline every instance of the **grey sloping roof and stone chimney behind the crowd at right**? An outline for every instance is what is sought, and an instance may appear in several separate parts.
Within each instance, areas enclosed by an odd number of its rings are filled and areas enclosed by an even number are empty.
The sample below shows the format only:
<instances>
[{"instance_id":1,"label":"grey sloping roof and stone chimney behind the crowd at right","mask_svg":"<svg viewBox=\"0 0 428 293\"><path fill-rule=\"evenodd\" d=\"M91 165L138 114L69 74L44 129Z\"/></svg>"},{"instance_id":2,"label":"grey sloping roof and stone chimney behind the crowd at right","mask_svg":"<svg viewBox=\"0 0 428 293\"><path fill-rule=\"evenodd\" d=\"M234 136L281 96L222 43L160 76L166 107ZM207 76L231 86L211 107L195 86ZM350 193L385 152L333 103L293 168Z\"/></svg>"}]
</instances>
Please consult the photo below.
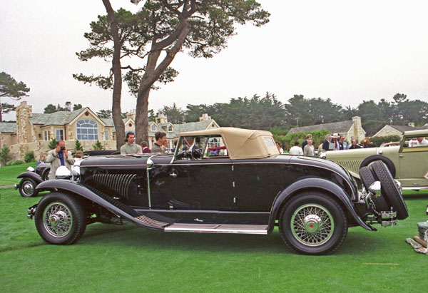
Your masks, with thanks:
<instances>
[{"instance_id":1,"label":"grey sloping roof and stone chimney behind the crowd at right","mask_svg":"<svg viewBox=\"0 0 428 293\"><path fill-rule=\"evenodd\" d=\"M345 136L346 141L350 141L352 139L360 141L365 138L366 135L365 130L362 129L361 117L359 116L352 117L352 120L347 121L295 127L291 128L287 134L306 133L309 131L322 129L328 130L330 133L338 133L339 135L343 135Z\"/></svg>"}]
</instances>

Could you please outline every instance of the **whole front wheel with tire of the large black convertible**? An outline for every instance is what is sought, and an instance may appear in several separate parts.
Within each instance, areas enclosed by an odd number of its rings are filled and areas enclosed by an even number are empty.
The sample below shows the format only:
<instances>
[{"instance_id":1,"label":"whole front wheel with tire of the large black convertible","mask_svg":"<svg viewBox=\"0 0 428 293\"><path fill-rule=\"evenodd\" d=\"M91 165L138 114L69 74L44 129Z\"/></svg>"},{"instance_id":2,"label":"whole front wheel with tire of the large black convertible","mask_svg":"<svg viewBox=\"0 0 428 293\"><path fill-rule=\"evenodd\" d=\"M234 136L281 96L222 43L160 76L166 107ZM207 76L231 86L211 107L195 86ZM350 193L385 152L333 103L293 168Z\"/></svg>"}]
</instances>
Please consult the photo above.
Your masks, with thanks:
<instances>
[{"instance_id":1,"label":"whole front wheel with tire of the large black convertible","mask_svg":"<svg viewBox=\"0 0 428 293\"><path fill-rule=\"evenodd\" d=\"M71 245L86 230L82 205L72 195L63 192L45 195L37 206L34 220L39 235L54 245Z\"/></svg>"}]
</instances>

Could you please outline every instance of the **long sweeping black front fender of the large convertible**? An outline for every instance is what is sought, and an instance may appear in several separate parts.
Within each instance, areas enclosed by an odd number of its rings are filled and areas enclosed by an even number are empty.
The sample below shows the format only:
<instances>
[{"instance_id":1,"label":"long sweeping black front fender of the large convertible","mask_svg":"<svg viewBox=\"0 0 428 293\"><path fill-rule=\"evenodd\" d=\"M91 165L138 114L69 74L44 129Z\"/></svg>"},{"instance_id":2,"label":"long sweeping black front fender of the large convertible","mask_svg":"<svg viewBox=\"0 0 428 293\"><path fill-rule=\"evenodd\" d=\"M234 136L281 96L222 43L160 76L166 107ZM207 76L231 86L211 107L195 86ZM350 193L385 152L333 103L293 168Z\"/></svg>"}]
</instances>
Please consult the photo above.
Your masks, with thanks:
<instances>
[{"instance_id":1,"label":"long sweeping black front fender of the large convertible","mask_svg":"<svg viewBox=\"0 0 428 293\"><path fill-rule=\"evenodd\" d=\"M166 225L169 223L158 222L153 220L146 215L140 215L136 210L128 205L124 205L122 202L115 200L113 197L106 195L105 193L96 190L91 187L81 185L79 183L74 183L70 180L47 180L36 187L37 190L64 190L66 192L71 192L74 195L85 197L88 200L95 202L101 207L105 207L107 210L124 217L126 220L135 223L141 227L146 227L153 230L163 230Z\"/></svg>"}]
</instances>

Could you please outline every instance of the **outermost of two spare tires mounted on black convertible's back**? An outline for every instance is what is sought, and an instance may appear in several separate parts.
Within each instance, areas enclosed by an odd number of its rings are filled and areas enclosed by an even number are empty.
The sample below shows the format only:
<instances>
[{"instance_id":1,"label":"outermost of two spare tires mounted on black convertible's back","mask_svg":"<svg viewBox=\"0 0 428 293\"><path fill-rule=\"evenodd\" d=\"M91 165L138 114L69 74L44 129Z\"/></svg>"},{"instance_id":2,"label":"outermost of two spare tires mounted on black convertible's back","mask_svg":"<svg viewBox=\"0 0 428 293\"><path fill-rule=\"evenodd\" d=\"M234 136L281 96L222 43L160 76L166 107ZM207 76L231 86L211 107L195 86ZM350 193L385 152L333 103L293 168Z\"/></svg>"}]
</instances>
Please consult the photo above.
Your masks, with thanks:
<instances>
[{"instance_id":1,"label":"outermost of two spare tires mounted on black convertible's back","mask_svg":"<svg viewBox=\"0 0 428 293\"><path fill-rule=\"evenodd\" d=\"M404 220L409 217L409 210L407 210L402 192L399 190L387 166L382 161L377 160L370 165L370 168L381 183L381 192L388 205L392 206L394 211L397 211L397 219Z\"/></svg>"}]
</instances>

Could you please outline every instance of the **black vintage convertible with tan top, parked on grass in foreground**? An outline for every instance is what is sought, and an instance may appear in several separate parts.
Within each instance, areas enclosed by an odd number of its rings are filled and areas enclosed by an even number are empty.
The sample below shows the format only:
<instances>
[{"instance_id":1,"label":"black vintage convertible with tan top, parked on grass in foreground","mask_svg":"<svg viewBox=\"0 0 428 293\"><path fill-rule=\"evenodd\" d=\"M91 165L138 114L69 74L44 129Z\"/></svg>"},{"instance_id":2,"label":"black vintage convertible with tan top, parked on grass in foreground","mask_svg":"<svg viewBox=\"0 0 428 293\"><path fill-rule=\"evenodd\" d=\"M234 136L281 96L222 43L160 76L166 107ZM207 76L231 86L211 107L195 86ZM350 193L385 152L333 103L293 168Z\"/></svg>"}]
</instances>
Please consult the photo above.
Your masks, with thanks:
<instances>
[{"instance_id":1,"label":"black vintage convertible with tan top, parked on grass in foreground","mask_svg":"<svg viewBox=\"0 0 428 293\"><path fill-rule=\"evenodd\" d=\"M329 254L348 227L391 226L408 216L397 182L382 162L363 176L366 188L340 165L280 155L272 134L216 128L181 133L173 154L105 155L58 168L51 190L29 208L41 237L76 242L94 222L133 222L165 232L267 235L279 226L295 252ZM367 171L367 170L366 170Z\"/></svg>"}]
</instances>

